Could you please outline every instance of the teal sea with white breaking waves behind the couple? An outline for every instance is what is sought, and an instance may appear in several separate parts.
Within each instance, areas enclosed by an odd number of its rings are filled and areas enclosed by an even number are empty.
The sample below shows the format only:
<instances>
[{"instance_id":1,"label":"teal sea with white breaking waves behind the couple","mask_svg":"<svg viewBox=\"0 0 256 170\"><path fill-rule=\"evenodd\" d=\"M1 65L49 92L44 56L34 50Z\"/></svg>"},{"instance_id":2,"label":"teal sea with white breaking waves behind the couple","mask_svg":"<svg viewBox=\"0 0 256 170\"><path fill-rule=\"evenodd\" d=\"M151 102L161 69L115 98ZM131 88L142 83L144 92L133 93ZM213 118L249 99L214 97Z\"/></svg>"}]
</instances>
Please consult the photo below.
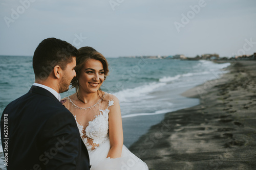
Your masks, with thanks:
<instances>
[{"instance_id":1,"label":"teal sea with white breaking waves behind the couple","mask_svg":"<svg viewBox=\"0 0 256 170\"><path fill-rule=\"evenodd\" d=\"M124 145L129 148L164 114L199 104L199 99L186 98L184 91L215 80L230 63L207 60L107 58L109 76L101 89L117 96L120 102ZM0 113L34 83L32 57L0 56ZM61 94L71 95L74 89ZM10 125L9 125L10 126ZM32 128L32 127L31 127ZM0 169L5 169L0 147Z\"/></svg>"}]
</instances>

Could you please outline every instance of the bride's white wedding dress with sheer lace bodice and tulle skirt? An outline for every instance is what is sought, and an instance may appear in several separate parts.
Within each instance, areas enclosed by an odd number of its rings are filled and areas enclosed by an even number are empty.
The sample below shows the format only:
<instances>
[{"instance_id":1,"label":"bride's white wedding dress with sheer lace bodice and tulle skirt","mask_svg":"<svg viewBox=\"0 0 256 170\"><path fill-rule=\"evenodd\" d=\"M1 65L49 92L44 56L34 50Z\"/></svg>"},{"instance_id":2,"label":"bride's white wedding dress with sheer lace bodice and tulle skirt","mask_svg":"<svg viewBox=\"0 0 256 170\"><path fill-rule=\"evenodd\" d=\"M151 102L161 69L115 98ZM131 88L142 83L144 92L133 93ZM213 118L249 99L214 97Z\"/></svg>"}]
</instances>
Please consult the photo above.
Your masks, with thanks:
<instances>
[{"instance_id":1,"label":"bride's white wedding dress with sheer lace bodice and tulle skirt","mask_svg":"<svg viewBox=\"0 0 256 170\"><path fill-rule=\"evenodd\" d=\"M94 106L89 108L80 108L76 106L72 100L67 97L63 100L67 109L71 113L75 113L74 117L84 144L87 147L90 157L91 170L114 170L114 169L131 169L131 170L146 170L148 169L146 163L140 160L132 152L130 152L124 145L122 147L122 154L120 158L106 158L110 150L109 138L109 112L111 106L114 105L112 94L105 93L103 101L99 101ZM89 121L87 127L83 127L77 117L84 117L87 115ZM79 119L80 119L79 118Z\"/></svg>"}]
</instances>

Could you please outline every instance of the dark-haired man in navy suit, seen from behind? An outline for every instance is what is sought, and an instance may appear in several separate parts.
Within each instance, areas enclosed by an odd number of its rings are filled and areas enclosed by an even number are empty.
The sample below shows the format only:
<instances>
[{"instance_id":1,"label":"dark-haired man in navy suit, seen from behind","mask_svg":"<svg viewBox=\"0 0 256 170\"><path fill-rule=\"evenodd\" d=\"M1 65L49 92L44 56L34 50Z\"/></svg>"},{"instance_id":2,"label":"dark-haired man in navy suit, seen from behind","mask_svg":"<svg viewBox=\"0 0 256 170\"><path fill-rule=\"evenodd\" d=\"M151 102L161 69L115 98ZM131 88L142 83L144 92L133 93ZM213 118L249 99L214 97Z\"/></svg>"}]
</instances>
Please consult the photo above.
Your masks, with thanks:
<instances>
[{"instance_id":1,"label":"dark-haired man in navy suit, seen from behind","mask_svg":"<svg viewBox=\"0 0 256 170\"><path fill-rule=\"evenodd\" d=\"M74 116L61 105L59 95L76 76L77 56L77 49L60 39L48 38L37 46L35 83L5 108L1 118L8 170L90 169Z\"/></svg>"}]
</instances>

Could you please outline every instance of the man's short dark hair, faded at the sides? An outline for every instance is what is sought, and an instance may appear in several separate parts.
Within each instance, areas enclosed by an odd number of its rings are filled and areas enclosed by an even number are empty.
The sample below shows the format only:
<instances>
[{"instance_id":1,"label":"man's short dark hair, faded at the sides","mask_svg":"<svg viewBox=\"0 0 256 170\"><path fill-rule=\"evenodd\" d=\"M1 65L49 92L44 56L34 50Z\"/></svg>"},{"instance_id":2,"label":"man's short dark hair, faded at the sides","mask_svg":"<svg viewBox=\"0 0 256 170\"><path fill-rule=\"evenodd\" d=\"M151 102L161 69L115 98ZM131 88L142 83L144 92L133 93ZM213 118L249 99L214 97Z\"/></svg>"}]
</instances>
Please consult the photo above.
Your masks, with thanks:
<instances>
[{"instance_id":1,"label":"man's short dark hair, faded at the sides","mask_svg":"<svg viewBox=\"0 0 256 170\"><path fill-rule=\"evenodd\" d=\"M77 56L76 47L66 41L56 38L42 40L33 56L35 78L47 79L56 65L65 70L67 64L72 62L72 58Z\"/></svg>"}]
</instances>

